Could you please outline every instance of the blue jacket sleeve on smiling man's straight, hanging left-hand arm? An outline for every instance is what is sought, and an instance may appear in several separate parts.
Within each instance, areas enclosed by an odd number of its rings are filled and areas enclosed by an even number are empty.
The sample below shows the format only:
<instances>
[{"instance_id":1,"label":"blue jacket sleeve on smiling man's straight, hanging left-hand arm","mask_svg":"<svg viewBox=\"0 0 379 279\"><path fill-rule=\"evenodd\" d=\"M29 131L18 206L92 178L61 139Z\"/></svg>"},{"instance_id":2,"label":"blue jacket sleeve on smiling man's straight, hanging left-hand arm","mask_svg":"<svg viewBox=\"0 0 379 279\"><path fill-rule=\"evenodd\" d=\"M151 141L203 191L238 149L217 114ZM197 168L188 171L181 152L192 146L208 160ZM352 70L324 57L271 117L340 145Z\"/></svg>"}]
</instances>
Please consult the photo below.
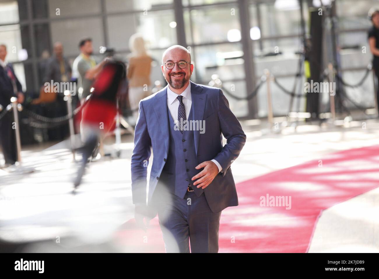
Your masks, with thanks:
<instances>
[{"instance_id":1,"label":"blue jacket sleeve on smiling man's straight, hanging left-hand arm","mask_svg":"<svg viewBox=\"0 0 379 279\"><path fill-rule=\"evenodd\" d=\"M151 139L147 131L143 102L140 101L131 162L133 204L146 203L147 166L149 165L150 155Z\"/></svg>"}]
</instances>

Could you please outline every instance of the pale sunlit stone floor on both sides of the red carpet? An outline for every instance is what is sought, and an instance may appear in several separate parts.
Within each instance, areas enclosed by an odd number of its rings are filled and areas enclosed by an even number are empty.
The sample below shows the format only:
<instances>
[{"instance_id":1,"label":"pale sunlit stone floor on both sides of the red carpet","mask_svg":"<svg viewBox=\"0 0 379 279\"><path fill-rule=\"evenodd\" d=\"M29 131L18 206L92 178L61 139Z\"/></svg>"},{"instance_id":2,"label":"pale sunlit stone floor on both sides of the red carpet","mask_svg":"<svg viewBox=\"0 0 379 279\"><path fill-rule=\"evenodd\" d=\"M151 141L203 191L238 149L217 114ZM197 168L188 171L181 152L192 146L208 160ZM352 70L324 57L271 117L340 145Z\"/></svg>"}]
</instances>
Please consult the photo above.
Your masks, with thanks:
<instances>
[{"instance_id":1,"label":"pale sunlit stone floor on both sides of the red carpet","mask_svg":"<svg viewBox=\"0 0 379 279\"><path fill-rule=\"evenodd\" d=\"M353 121L345 126L303 123L296 131L291 126L277 125L270 132L265 122L241 121L247 142L233 162L233 177L240 182L322 158L323 154L378 144L379 121L364 122L362 125L362 121ZM109 240L114 230L133 218L130 188L133 137L122 136L119 147L113 142L114 138L108 139L106 151L114 153L120 148L121 158L106 156L91 162L75 195L72 178L77 166L67 149L67 140L23 147L22 166L33 168L34 172L0 170L0 240L26 243L75 236L70 244L60 247L75 249L80 245L81 251L125 251ZM375 214L378 205L379 189L374 189L323 211L309 252L378 252L379 215ZM83 248L97 243L109 246ZM22 251L59 251L54 244L43 248L27 246Z\"/></svg>"}]
</instances>

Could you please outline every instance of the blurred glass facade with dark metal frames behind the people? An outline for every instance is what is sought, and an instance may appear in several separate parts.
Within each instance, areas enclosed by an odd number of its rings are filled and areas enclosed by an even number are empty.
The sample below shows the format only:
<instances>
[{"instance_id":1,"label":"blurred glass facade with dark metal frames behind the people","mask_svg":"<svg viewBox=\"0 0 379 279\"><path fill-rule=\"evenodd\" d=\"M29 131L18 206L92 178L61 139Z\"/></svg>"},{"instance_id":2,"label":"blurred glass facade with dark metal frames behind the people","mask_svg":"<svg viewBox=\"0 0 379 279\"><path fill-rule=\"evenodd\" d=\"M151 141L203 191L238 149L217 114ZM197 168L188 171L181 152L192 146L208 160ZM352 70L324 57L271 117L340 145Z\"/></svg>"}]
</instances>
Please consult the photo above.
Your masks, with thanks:
<instances>
[{"instance_id":1,"label":"blurred glass facade with dark metal frames behind the people","mask_svg":"<svg viewBox=\"0 0 379 279\"><path fill-rule=\"evenodd\" d=\"M346 78L362 75L371 61L372 55L367 42L367 30L371 23L367 19L367 12L376 2L336 0L341 68ZM303 3L303 16L308 32L309 1ZM325 28L328 28L327 22ZM160 70L163 51L173 44L182 44L191 51L195 66L192 77L194 82L208 84L211 76L217 74L224 87L239 97L252 92L254 88L247 87L259 82L266 68L283 85L292 88L294 75L298 72L298 61L301 59L299 52L303 49L298 1L0 2L0 43L7 45L7 59L14 63L16 74L26 91L39 90L44 61L52 55L54 42L63 43L64 54L71 61L77 57L78 42L84 37L92 38L98 57L101 56L101 47L106 46L116 50L117 55L127 58L130 53L128 40L137 32L146 39L149 52L155 60L152 82L160 80L164 83ZM362 46L366 46L365 54L362 53ZM249 57L252 58L246 59L244 52L248 50L251 52ZM279 54L276 50L279 50ZM365 91L373 91L372 79L367 79L363 86ZM301 88L299 92L300 90ZM286 114L288 96L275 85L272 86L272 94L274 115ZM369 104L373 94L365 94ZM231 97L228 99L238 117L267 115L265 86L260 89L257 98L249 102L236 101ZM295 104L298 106L297 101ZM299 107L304 111L303 102L300 102Z\"/></svg>"}]
</instances>

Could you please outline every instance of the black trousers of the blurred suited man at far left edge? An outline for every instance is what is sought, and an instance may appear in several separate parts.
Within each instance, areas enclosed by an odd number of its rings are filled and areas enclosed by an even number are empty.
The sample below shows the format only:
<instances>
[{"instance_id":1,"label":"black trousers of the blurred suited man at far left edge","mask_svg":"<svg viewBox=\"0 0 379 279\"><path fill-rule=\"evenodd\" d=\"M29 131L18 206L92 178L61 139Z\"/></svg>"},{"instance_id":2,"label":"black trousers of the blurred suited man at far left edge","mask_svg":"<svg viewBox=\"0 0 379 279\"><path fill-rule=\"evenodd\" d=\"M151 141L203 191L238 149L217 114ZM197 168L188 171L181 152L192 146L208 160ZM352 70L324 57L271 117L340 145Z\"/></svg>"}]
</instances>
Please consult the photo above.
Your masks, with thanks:
<instances>
[{"instance_id":1,"label":"black trousers of the blurred suited man at far left edge","mask_svg":"<svg viewBox=\"0 0 379 279\"><path fill-rule=\"evenodd\" d=\"M12 112L6 113L0 119L0 143L2 146L5 164L14 164L17 161L16 134L13 126Z\"/></svg>"}]
</instances>

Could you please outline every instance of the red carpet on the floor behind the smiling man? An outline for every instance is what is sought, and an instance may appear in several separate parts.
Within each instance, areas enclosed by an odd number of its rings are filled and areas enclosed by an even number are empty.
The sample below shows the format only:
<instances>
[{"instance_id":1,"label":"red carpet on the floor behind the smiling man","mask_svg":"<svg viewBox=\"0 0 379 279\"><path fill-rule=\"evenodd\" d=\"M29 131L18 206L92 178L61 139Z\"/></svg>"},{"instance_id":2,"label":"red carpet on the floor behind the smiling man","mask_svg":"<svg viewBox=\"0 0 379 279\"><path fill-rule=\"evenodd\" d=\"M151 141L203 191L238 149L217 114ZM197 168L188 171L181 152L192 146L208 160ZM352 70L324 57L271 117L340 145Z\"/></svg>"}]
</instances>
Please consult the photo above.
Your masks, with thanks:
<instances>
[{"instance_id":1,"label":"red carpet on the floor behind the smiling man","mask_svg":"<svg viewBox=\"0 0 379 279\"><path fill-rule=\"evenodd\" d=\"M379 145L319 159L237 184L240 205L222 211L219 252L307 252L322 210L379 186ZM267 195L287 196L290 209L260 206ZM130 251L164 252L158 218L147 233L132 224L117 239Z\"/></svg>"}]
</instances>

